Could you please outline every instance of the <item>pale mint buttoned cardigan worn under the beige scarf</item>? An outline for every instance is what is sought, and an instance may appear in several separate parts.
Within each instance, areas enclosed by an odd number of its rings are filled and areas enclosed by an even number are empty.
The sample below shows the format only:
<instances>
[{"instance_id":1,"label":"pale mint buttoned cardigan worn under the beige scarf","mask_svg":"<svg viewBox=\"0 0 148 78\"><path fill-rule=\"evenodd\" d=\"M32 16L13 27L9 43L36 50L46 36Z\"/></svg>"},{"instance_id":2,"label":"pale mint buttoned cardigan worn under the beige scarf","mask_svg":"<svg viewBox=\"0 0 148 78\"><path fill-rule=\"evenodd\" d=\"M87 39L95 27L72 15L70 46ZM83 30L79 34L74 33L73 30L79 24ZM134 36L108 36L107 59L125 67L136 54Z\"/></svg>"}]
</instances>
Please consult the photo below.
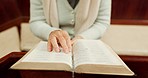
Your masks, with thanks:
<instances>
[{"instance_id":1,"label":"pale mint buttoned cardigan worn under the beige scarf","mask_svg":"<svg viewBox=\"0 0 148 78\"><path fill-rule=\"evenodd\" d=\"M59 28L68 31L71 36L80 35L85 39L98 39L100 38L106 29L110 25L111 15L111 0L101 0L99 5L99 11L95 22L89 28L77 33L74 31L74 24L76 19L76 10L79 8L76 6L75 9L68 4L67 0L57 0L57 12L59 27L54 27L48 24L45 11L44 3L42 0L30 0L31 1L31 19L30 28L32 32L43 40L47 40L49 34L58 30ZM80 0L81 1L81 0Z\"/></svg>"}]
</instances>

